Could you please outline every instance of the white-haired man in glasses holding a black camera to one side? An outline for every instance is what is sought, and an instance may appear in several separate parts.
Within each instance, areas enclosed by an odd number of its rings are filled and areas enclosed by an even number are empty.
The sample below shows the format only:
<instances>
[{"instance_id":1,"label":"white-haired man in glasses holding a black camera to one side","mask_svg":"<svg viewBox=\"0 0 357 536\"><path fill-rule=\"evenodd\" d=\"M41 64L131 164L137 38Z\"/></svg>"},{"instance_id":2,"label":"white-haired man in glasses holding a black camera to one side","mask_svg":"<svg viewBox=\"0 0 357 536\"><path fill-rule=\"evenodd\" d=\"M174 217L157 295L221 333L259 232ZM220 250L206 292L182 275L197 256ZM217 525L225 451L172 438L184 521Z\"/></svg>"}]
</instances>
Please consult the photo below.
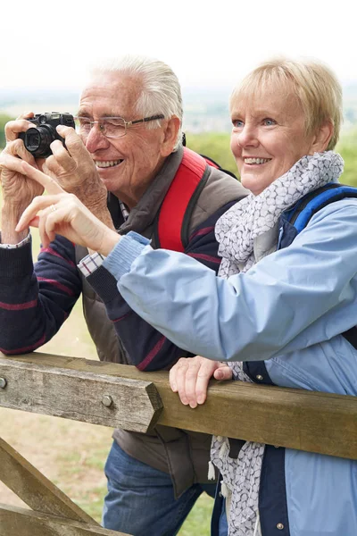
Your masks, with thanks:
<instances>
[{"instance_id":1,"label":"white-haired man in glasses holding a black camera to one side","mask_svg":"<svg viewBox=\"0 0 357 536\"><path fill-rule=\"evenodd\" d=\"M79 135L58 127L66 148L54 141L46 162L35 162L19 138L33 126L27 121L31 114L7 124L5 153L43 167L112 229L136 230L154 247L182 250L217 271L214 224L245 189L182 147L181 94L170 68L130 56L93 71L78 115ZM2 186L0 347L5 354L32 351L51 339L82 293L101 359L149 371L191 356L130 309L102 259L95 267L86 263L87 250L57 236L33 266L28 231L18 233L15 226L42 189L5 169ZM117 430L113 438L105 466L104 526L134 536L176 534L203 490L214 492L207 480L211 437L157 426L150 435Z\"/></svg>"}]
</instances>

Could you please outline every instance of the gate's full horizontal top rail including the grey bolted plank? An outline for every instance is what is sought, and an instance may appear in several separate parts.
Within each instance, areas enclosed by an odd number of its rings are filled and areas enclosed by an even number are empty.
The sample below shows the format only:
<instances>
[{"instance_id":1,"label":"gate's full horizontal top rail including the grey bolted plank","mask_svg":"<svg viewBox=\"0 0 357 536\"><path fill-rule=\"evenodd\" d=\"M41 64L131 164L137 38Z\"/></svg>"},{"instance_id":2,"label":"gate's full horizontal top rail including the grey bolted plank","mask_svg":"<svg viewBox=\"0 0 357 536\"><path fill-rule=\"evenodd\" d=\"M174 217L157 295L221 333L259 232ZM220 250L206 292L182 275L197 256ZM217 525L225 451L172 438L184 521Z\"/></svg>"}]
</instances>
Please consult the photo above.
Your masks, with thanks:
<instances>
[{"instance_id":1,"label":"gate's full horizontal top rail including the grey bolted plank","mask_svg":"<svg viewBox=\"0 0 357 536\"><path fill-rule=\"evenodd\" d=\"M0 378L4 407L133 431L159 423L357 459L355 397L213 381L206 403L191 409L171 391L167 372L40 353L3 356Z\"/></svg>"}]
</instances>

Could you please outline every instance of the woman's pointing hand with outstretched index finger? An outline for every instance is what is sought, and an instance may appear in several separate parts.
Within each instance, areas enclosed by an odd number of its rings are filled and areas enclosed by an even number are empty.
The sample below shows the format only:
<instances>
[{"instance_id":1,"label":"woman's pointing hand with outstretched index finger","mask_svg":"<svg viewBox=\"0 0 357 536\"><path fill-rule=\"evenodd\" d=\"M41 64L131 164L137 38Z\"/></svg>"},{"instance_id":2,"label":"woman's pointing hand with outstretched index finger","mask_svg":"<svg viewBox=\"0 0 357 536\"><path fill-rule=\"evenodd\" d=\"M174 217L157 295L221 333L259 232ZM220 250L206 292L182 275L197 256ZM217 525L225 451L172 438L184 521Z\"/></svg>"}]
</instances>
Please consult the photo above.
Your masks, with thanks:
<instances>
[{"instance_id":1,"label":"woman's pointing hand with outstretched index finger","mask_svg":"<svg viewBox=\"0 0 357 536\"><path fill-rule=\"evenodd\" d=\"M73 194L67 194L61 186L45 173L32 167L29 163L7 156L0 162L12 172L26 175L49 195L35 197L21 215L16 231L26 229L29 225L38 227L44 247L54 240L56 234L108 255L120 236L98 220L85 205Z\"/></svg>"}]
</instances>

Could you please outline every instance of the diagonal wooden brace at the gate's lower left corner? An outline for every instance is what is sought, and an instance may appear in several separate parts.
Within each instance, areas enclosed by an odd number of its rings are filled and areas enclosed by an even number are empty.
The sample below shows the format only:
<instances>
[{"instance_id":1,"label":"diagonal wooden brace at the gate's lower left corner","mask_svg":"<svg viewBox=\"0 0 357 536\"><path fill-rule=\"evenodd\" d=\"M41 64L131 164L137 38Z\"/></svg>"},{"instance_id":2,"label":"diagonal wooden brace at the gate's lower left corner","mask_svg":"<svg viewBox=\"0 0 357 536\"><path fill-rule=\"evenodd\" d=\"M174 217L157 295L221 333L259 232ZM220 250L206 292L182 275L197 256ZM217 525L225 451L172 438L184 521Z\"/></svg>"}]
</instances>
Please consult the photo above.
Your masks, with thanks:
<instances>
[{"instance_id":1,"label":"diagonal wooden brace at the gate's lower left corner","mask_svg":"<svg viewBox=\"0 0 357 536\"><path fill-rule=\"evenodd\" d=\"M98 524L1 438L0 480L33 510Z\"/></svg>"}]
</instances>

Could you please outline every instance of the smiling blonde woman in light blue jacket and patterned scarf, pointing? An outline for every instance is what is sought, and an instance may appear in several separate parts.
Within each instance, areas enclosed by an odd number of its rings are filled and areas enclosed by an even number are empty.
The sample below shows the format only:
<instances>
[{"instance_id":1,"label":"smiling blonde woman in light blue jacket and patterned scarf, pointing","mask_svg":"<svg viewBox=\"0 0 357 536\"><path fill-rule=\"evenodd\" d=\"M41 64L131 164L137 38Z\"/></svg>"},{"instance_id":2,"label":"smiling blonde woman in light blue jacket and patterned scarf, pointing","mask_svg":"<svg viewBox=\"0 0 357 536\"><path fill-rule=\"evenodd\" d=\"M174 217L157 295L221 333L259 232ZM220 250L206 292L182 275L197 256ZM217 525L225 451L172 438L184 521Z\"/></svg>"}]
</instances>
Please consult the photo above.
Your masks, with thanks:
<instances>
[{"instance_id":1,"label":"smiling blonde woman in light blue jacket and patterned scarf, pointing","mask_svg":"<svg viewBox=\"0 0 357 536\"><path fill-rule=\"evenodd\" d=\"M286 218L343 170L333 152L339 84L319 63L264 63L236 88L230 113L231 149L252 194L217 224L220 277L135 233L120 238L41 172L4 157L53 194L29 206L18 230L32 222L45 245L57 232L106 255L104 268L138 314L180 348L229 362L235 379L356 395L357 350L342 334L356 322L357 199L324 206L298 234ZM197 362L205 363L193 358L171 374L193 406L200 389L185 373ZM357 534L357 462L250 442L237 459L228 455L228 440L213 440L228 497L220 534Z\"/></svg>"}]
</instances>

